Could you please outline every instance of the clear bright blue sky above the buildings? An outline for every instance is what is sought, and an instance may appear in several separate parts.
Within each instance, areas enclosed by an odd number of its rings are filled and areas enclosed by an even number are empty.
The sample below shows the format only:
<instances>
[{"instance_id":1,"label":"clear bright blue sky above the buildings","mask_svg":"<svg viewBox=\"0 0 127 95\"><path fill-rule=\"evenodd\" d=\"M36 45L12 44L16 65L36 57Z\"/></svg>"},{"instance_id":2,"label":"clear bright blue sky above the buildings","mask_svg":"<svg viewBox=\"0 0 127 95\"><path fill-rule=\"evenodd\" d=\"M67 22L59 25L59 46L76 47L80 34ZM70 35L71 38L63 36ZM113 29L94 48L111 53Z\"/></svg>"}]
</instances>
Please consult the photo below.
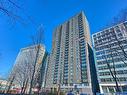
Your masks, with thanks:
<instances>
[{"instance_id":1,"label":"clear bright blue sky above the buildings","mask_svg":"<svg viewBox=\"0 0 127 95\"><path fill-rule=\"evenodd\" d=\"M127 0L21 0L18 4L22 11L15 12L24 18L25 25L0 12L0 77L7 77L20 48L32 43L31 36L39 25L43 24L44 43L50 51L53 29L81 10L92 34L105 27L121 9L127 8Z\"/></svg>"}]
</instances>

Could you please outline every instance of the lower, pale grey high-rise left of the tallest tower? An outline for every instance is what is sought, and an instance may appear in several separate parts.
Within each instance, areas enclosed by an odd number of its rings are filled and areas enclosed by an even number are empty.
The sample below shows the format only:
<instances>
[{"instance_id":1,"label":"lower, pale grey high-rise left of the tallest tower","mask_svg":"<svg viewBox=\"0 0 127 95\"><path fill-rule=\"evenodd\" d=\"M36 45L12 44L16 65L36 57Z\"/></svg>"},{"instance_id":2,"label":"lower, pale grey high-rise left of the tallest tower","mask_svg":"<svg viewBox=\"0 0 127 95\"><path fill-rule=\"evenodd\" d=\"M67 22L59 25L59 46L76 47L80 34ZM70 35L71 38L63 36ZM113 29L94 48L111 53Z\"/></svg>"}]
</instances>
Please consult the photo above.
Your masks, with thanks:
<instances>
[{"instance_id":1,"label":"lower, pale grey high-rise left of the tallest tower","mask_svg":"<svg viewBox=\"0 0 127 95\"><path fill-rule=\"evenodd\" d=\"M38 52L38 53L37 53ZM27 82L27 93L29 91L30 81L34 72L34 80L32 87L39 88L44 85L45 81L45 59L47 52L43 45L33 45L22 48L16 58L11 76L15 76L14 82L23 87L23 83ZM36 62L36 63L35 63ZM35 65L36 64L36 65Z\"/></svg>"}]
</instances>

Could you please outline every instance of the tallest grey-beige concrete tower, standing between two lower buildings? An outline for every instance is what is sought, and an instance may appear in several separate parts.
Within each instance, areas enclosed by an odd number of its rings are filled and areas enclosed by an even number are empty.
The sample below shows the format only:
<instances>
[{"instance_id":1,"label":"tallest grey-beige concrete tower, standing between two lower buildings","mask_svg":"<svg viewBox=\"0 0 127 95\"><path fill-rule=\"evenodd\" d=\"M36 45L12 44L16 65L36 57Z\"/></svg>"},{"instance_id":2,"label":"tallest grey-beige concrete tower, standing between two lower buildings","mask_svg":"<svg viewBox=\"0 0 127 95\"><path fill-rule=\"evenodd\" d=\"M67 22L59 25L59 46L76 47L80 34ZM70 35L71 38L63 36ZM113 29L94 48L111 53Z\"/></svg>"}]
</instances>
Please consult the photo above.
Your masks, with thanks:
<instances>
[{"instance_id":1,"label":"tallest grey-beige concrete tower, standing between two lower buildings","mask_svg":"<svg viewBox=\"0 0 127 95\"><path fill-rule=\"evenodd\" d=\"M89 24L83 12L56 27L47 70L46 88L98 91Z\"/></svg>"}]
</instances>

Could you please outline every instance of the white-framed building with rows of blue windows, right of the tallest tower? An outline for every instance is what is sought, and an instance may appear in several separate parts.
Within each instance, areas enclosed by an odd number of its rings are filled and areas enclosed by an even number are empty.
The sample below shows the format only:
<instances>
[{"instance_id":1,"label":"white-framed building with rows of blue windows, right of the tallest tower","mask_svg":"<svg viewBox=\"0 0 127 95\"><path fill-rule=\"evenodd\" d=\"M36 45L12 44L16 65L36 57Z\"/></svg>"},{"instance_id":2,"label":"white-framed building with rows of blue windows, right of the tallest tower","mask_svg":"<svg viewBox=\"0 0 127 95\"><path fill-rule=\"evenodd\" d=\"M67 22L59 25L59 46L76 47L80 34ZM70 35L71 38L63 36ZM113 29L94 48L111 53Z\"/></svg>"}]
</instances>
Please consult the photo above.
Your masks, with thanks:
<instances>
[{"instance_id":1,"label":"white-framed building with rows of blue windows, right of the tallest tower","mask_svg":"<svg viewBox=\"0 0 127 95\"><path fill-rule=\"evenodd\" d=\"M127 22L97 32L92 38L101 92L118 90L114 75L120 91L127 91Z\"/></svg>"}]
</instances>

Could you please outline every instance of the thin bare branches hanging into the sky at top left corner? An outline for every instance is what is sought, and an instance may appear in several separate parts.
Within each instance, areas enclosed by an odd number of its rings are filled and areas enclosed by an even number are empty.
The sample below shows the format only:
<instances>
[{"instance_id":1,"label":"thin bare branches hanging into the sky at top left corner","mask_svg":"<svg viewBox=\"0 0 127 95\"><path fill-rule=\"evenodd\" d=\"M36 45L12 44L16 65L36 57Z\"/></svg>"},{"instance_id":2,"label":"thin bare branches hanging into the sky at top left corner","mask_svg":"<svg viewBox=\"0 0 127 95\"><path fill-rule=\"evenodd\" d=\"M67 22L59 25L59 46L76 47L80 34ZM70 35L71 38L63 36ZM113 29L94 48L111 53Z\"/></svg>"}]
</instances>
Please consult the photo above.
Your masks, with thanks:
<instances>
[{"instance_id":1,"label":"thin bare branches hanging into the sky at top left corner","mask_svg":"<svg viewBox=\"0 0 127 95\"><path fill-rule=\"evenodd\" d=\"M11 22L18 22L26 26L28 22L36 25L36 21L20 5L19 0L0 0L0 13L7 16Z\"/></svg>"}]
</instances>

